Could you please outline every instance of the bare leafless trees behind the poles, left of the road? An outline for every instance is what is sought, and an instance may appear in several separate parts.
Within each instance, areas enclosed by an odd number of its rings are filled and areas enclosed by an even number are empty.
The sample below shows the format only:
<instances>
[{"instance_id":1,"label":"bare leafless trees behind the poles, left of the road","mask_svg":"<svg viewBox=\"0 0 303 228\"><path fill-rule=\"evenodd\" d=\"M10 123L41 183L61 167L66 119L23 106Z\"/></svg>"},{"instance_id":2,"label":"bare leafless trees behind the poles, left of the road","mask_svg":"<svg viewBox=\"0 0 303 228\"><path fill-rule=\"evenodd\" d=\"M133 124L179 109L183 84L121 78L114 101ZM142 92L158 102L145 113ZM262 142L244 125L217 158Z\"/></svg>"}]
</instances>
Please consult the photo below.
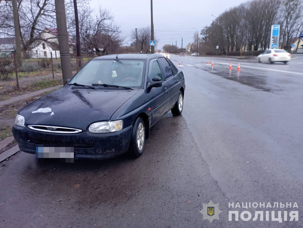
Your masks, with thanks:
<instances>
[{"instance_id":1,"label":"bare leafless trees behind the poles, left of the road","mask_svg":"<svg viewBox=\"0 0 303 228\"><path fill-rule=\"evenodd\" d=\"M80 43L83 53L95 52L97 55L114 53L124 42L119 26L114 22L113 15L99 8L95 12L89 7L89 1L77 0L80 30ZM45 38L45 28L57 28L55 2L53 0L17 0L18 23L23 55L35 41L52 40ZM15 37L12 1L0 0L0 37ZM73 0L65 0L65 12L71 48L75 49L75 12Z\"/></svg>"}]
</instances>

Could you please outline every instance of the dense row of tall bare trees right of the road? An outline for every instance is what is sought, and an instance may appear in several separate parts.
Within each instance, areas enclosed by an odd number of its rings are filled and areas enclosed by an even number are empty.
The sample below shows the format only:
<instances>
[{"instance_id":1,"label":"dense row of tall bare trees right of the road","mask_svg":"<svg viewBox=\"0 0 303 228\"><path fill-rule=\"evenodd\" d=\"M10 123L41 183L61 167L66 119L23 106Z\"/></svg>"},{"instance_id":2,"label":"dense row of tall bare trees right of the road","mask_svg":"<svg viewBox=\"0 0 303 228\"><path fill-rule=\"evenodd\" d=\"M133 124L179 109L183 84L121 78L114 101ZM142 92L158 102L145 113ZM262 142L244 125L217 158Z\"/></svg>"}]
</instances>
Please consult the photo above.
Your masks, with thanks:
<instances>
[{"instance_id":1,"label":"dense row of tall bare trees right of the road","mask_svg":"<svg viewBox=\"0 0 303 228\"><path fill-rule=\"evenodd\" d=\"M289 50L291 38L303 33L303 1L252 0L230 8L201 30L199 51L216 51L216 45L223 54L268 49L273 24L280 25L279 47Z\"/></svg>"}]
</instances>

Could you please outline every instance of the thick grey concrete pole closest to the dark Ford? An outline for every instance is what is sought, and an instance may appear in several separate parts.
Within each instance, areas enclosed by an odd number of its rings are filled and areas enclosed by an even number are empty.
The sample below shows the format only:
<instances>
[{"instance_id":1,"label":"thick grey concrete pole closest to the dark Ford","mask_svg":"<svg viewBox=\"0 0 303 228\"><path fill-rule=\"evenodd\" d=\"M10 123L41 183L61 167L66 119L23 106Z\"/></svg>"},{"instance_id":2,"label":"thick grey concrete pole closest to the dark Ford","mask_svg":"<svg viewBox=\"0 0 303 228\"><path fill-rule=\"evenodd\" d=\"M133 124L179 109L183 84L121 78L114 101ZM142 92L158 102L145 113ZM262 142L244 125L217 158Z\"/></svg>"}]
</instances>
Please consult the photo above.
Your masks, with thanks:
<instances>
[{"instance_id":1,"label":"thick grey concrete pole closest to the dark Ford","mask_svg":"<svg viewBox=\"0 0 303 228\"><path fill-rule=\"evenodd\" d=\"M72 63L69 54L68 33L66 26L66 15L64 0L55 0L56 21L58 30L58 41L60 50L60 61L62 68L63 84L72 78Z\"/></svg>"}]
</instances>

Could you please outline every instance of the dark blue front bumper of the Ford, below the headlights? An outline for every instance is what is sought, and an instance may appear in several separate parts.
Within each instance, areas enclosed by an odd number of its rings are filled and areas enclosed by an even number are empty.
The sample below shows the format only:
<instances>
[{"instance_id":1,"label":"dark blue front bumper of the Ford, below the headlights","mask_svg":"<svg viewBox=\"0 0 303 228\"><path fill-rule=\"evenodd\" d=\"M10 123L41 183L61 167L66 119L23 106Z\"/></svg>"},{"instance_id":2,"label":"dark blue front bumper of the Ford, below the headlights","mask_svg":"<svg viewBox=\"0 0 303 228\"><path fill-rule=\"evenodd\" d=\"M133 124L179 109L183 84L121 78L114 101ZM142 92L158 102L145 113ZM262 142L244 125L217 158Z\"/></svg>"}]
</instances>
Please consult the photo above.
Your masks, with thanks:
<instances>
[{"instance_id":1,"label":"dark blue front bumper of the Ford, below the headlights","mask_svg":"<svg viewBox=\"0 0 303 228\"><path fill-rule=\"evenodd\" d=\"M111 133L82 131L75 134L48 133L14 125L12 132L20 150L36 154L36 145L74 147L75 158L105 159L128 150L132 126Z\"/></svg>"}]
</instances>

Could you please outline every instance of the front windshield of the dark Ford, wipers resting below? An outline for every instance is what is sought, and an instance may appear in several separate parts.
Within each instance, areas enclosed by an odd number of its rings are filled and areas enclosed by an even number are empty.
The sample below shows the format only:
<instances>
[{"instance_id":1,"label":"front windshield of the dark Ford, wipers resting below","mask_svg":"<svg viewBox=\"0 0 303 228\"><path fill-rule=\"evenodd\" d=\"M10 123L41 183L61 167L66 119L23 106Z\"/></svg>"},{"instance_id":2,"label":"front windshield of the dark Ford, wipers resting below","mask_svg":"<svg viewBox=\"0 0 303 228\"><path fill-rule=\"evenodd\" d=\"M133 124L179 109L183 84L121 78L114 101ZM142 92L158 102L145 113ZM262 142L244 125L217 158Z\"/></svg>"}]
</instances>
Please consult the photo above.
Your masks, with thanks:
<instances>
[{"instance_id":1,"label":"front windshield of the dark Ford, wipers resting below","mask_svg":"<svg viewBox=\"0 0 303 228\"><path fill-rule=\"evenodd\" d=\"M69 84L141 87L143 66L144 61L140 60L92 60L69 81Z\"/></svg>"}]
</instances>

